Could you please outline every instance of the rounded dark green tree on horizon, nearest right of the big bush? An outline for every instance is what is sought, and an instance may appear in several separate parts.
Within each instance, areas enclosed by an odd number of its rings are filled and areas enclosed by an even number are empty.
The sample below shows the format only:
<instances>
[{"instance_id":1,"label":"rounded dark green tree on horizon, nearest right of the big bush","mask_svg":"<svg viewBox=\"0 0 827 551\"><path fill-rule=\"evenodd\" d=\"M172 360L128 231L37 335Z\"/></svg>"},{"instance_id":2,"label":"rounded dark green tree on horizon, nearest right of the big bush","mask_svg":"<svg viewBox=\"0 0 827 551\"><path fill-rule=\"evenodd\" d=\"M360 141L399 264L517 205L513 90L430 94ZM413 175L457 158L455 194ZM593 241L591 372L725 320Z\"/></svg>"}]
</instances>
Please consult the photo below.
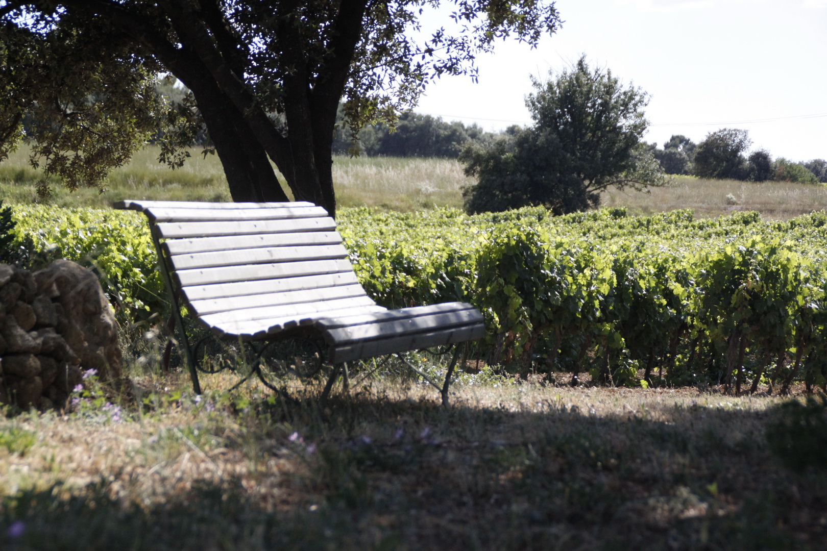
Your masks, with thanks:
<instances>
[{"instance_id":1,"label":"rounded dark green tree on horizon, nearest right of the big bush","mask_svg":"<svg viewBox=\"0 0 827 551\"><path fill-rule=\"evenodd\" d=\"M737 128L710 132L695 151L694 173L700 178L746 178L746 151L752 140L749 133Z\"/></svg>"}]
</instances>

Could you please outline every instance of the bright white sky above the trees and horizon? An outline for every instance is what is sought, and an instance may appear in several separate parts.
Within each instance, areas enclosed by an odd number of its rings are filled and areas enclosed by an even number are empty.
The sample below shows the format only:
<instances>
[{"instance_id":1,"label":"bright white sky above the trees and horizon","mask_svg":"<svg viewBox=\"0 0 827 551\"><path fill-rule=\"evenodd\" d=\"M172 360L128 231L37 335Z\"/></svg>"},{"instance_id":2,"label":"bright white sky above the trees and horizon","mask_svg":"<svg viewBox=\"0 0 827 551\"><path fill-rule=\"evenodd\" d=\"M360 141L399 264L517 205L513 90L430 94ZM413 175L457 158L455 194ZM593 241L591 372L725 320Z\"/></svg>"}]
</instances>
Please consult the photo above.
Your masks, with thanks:
<instances>
[{"instance_id":1,"label":"bright white sky above the trees and horizon","mask_svg":"<svg viewBox=\"0 0 827 551\"><path fill-rule=\"evenodd\" d=\"M699 142L734 127L773 157L827 159L827 0L557 0L557 9L565 22L537 50L498 43L478 59L479 83L442 78L415 111L492 131L530 124L529 74L546 79L586 54L651 95L644 140Z\"/></svg>"}]
</instances>

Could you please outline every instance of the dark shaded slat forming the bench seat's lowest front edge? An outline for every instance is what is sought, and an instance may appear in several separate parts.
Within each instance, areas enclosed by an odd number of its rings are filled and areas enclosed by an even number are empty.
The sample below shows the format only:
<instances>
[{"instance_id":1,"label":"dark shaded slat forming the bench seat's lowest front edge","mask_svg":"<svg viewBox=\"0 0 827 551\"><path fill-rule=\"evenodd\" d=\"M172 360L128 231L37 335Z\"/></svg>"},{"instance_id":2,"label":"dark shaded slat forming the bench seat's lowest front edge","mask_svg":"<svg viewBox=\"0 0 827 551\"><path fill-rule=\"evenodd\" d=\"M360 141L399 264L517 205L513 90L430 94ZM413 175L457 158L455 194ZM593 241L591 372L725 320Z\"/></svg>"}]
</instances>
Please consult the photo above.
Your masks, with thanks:
<instances>
[{"instance_id":1,"label":"dark shaded slat forming the bench seat's lowest front edge","mask_svg":"<svg viewBox=\"0 0 827 551\"><path fill-rule=\"evenodd\" d=\"M332 348L329 352L328 361L331 363L350 362L354 359L373 358L385 354L407 352L408 350L461 343L466 340L480 339L483 335L485 335L485 325L480 323L452 330L402 335L385 340L369 340Z\"/></svg>"}]
</instances>

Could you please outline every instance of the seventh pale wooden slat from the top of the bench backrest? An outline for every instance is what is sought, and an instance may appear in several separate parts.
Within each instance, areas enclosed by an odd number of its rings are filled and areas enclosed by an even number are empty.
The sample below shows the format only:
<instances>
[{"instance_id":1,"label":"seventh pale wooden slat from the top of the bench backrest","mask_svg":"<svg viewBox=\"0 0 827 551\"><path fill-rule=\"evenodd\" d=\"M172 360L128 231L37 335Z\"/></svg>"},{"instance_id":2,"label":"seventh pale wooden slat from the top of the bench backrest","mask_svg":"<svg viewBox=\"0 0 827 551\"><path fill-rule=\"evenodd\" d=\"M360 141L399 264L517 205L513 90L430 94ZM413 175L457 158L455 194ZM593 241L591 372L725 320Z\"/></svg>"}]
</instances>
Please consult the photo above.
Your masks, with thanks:
<instances>
[{"instance_id":1,"label":"seventh pale wooden slat from the top of the bench backrest","mask_svg":"<svg viewBox=\"0 0 827 551\"><path fill-rule=\"evenodd\" d=\"M237 283L217 283L215 285L198 285L184 287L184 294L190 302L209 298L245 297L265 292L301 291L320 287L338 287L359 283L356 273L324 273L323 275L304 276L301 278L261 279Z\"/></svg>"}]
</instances>

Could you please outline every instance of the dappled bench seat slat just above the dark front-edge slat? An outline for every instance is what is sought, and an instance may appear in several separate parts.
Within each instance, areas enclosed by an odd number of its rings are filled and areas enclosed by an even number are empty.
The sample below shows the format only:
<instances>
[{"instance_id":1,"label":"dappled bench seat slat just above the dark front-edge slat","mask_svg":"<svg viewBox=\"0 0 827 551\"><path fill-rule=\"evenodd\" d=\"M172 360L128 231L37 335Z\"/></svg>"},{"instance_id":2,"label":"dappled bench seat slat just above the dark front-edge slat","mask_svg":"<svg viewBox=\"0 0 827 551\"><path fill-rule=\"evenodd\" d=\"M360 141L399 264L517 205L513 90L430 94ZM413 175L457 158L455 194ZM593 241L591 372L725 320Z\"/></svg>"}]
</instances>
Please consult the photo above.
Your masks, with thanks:
<instances>
[{"instance_id":1,"label":"dappled bench seat slat just above the dark front-edge slat","mask_svg":"<svg viewBox=\"0 0 827 551\"><path fill-rule=\"evenodd\" d=\"M437 329L473 325L482 323L482 316L478 311L462 310L429 316L409 317L402 320L383 321L352 325L325 332L325 340L337 347L342 344L351 344L356 341L387 339L390 336L413 335L414 333L428 333Z\"/></svg>"}]
</instances>

